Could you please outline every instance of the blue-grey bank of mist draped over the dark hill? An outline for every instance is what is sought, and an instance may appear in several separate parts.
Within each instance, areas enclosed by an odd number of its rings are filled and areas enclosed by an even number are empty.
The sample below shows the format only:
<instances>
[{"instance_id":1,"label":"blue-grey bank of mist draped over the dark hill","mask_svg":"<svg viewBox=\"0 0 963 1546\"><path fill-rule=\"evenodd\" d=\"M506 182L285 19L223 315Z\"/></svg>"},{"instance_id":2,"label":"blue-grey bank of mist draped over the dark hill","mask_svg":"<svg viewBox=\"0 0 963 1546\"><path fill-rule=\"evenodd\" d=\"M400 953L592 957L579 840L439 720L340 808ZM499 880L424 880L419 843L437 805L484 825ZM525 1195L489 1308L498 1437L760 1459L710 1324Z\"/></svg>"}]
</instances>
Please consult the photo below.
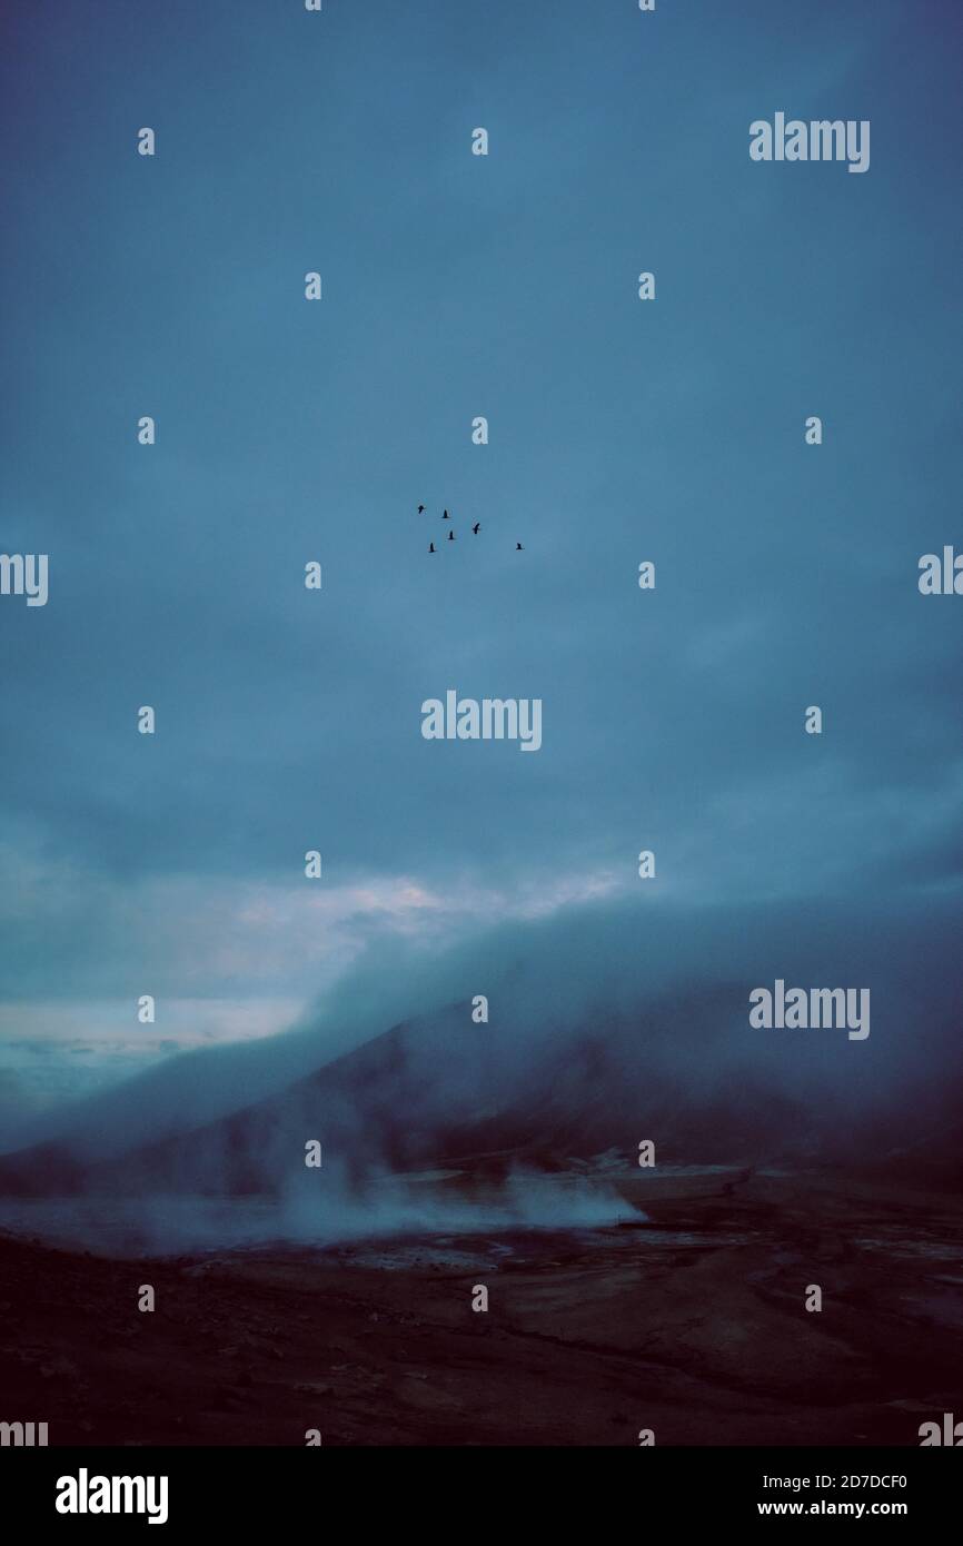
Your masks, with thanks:
<instances>
[{"instance_id":1,"label":"blue-grey bank of mist draped over the dark hill","mask_svg":"<svg viewBox=\"0 0 963 1546\"><path fill-rule=\"evenodd\" d=\"M515 1166L611 1147L629 1164L641 1139L671 1163L856 1163L907 1142L907 1110L926 1146L954 1118L961 1071L955 895L920 895L910 925L906 911L646 894L437 957L382 942L289 1033L173 1057L48 1121L3 1161L0 1187L136 1192L158 1218L173 1218L156 1201L173 1195L271 1197L274 1231L329 1237L427 1223L424 1198L373 1187L465 1155L507 1156L502 1187ZM753 1030L750 991L776 977L867 988L870 1036ZM487 1023L471 1014L479 994ZM510 1186L488 1214L524 1215L526 1187Z\"/></svg>"}]
</instances>

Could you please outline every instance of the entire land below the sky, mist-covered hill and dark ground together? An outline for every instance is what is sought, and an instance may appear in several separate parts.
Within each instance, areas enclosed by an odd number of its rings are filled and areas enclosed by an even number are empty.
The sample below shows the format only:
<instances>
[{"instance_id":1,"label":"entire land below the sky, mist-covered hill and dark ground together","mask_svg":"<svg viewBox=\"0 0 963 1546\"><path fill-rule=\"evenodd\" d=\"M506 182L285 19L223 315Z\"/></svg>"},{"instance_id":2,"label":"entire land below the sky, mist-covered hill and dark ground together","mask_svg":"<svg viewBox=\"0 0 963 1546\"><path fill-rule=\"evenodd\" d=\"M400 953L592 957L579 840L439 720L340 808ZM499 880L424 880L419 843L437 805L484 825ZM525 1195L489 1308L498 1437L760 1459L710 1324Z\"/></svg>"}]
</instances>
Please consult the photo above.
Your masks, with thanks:
<instances>
[{"instance_id":1,"label":"entire land below the sky, mist-covered hill and dark ground together","mask_svg":"<svg viewBox=\"0 0 963 1546\"><path fill-rule=\"evenodd\" d=\"M580 909L445 968L492 1023L436 968L408 1017L356 977L54 1113L0 1156L5 1413L53 1446L917 1446L963 1388L958 985L949 909L912 977L881 918L864 1044L754 1030L731 982L740 931L841 980L825 911L706 917L691 983L671 915Z\"/></svg>"}]
</instances>

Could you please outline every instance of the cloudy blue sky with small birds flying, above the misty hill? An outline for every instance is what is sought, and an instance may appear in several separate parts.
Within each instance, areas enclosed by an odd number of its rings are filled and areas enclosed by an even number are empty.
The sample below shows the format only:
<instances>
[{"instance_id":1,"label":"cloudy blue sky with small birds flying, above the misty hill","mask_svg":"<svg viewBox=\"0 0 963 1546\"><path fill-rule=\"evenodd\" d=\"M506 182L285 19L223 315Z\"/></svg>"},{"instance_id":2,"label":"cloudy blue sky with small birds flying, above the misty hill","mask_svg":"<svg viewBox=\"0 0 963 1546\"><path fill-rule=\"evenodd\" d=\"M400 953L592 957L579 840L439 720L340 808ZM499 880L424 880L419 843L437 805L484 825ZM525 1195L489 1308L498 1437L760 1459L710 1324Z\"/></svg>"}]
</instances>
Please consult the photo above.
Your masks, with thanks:
<instances>
[{"instance_id":1,"label":"cloudy blue sky with small birds flying, above the misty hill","mask_svg":"<svg viewBox=\"0 0 963 1546\"><path fill-rule=\"evenodd\" d=\"M0 25L0 552L49 555L0 597L0 1130L640 849L682 908L955 895L955 3ZM776 111L869 172L753 162ZM425 741L448 688L541 750Z\"/></svg>"}]
</instances>

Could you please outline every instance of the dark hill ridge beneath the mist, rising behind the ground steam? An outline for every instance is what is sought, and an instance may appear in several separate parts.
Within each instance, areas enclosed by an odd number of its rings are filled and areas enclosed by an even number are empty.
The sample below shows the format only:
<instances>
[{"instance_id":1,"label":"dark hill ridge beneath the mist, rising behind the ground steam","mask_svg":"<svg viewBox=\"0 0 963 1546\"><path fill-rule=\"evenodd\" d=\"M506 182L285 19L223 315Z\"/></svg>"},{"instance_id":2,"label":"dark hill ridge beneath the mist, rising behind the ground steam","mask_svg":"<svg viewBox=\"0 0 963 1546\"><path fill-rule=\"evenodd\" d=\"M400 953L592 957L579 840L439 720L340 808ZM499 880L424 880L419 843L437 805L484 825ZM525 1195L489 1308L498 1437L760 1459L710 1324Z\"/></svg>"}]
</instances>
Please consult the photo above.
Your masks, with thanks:
<instances>
[{"instance_id":1,"label":"dark hill ridge beneath the mist, rising behind the ground steam","mask_svg":"<svg viewBox=\"0 0 963 1546\"><path fill-rule=\"evenodd\" d=\"M448 1005L281 1093L121 1156L83 1160L57 1144L5 1156L0 1194L272 1194L305 1180L309 1139L322 1142L325 1167L346 1186L456 1161L485 1172L519 1163L556 1169L612 1147L634 1156L649 1138L662 1163L679 1164L873 1164L898 1147L886 1110L856 1116L830 1085L810 1081L790 1093L796 1085L779 1084L759 1061L720 1057L719 999L719 989L689 994L683 1005L530 1039L475 1025L467 1003ZM948 1130L934 1110L904 1164L940 1164L943 1149L958 1146Z\"/></svg>"}]
</instances>

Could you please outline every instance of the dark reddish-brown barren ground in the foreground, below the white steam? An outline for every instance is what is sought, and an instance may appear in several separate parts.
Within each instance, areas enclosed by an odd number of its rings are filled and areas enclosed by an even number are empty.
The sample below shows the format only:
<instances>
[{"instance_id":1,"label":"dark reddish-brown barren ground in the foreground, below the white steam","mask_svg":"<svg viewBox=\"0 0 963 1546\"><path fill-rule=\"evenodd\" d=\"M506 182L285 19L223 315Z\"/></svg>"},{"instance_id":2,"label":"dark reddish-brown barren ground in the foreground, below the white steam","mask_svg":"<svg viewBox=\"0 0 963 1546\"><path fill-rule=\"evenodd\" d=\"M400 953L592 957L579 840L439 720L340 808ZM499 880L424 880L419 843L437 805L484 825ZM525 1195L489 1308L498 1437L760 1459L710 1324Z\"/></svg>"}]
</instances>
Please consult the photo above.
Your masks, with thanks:
<instances>
[{"instance_id":1,"label":"dark reddish-brown barren ground in the foreground, below the white steam","mask_svg":"<svg viewBox=\"0 0 963 1546\"><path fill-rule=\"evenodd\" d=\"M631 1221L600 1229L150 1262L5 1235L5 1407L88 1446L915 1446L958 1407L951 1190L736 1167L615 1186Z\"/></svg>"}]
</instances>

